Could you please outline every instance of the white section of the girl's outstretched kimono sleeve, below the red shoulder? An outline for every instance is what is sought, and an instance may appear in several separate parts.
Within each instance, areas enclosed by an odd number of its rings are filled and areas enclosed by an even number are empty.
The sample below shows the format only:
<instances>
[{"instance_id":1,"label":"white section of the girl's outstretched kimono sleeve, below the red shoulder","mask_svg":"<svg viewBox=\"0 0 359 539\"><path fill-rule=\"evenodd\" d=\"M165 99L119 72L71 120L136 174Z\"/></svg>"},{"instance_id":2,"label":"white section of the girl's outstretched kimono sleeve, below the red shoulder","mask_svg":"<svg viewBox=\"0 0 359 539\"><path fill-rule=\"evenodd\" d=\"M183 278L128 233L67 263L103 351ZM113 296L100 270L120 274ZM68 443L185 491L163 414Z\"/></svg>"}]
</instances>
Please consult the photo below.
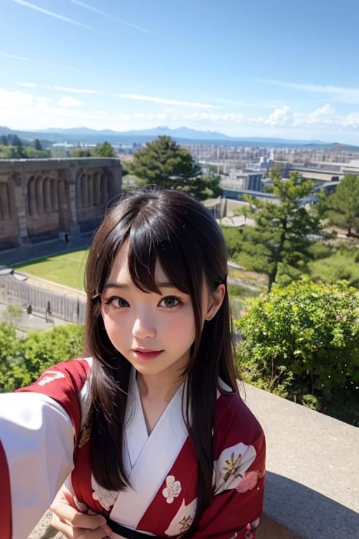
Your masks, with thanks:
<instances>
[{"instance_id":1,"label":"white section of the girl's outstretched kimono sleeve, below the red shoulder","mask_svg":"<svg viewBox=\"0 0 359 539\"><path fill-rule=\"evenodd\" d=\"M11 510L12 528L12 535L1 532L1 538L24 539L72 470L74 426L60 404L46 395L0 394L0 441L0 484L6 484L6 467L9 483L1 504Z\"/></svg>"}]
</instances>

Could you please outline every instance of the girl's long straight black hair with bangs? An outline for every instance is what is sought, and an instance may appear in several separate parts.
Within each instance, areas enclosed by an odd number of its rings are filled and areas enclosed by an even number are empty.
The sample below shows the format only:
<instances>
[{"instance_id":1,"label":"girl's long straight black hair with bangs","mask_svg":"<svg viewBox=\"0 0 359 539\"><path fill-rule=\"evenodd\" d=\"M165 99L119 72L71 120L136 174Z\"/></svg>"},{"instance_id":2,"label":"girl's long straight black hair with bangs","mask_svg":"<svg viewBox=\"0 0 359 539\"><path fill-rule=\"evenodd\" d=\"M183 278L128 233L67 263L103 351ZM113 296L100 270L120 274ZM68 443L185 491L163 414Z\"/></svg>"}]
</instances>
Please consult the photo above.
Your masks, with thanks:
<instances>
[{"instance_id":1,"label":"girl's long straight black hair with bangs","mask_svg":"<svg viewBox=\"0 0 359 539\"><path fill-rule=\"evenodd\" d=\"M123 490L123 431L130 378L129 362L111 344L102 320L100 295L111 265L128 241L128 271L137 288L156 292L156 261L170 282L191 297L196 338L184 376L189 437L198 458L195 522L212 497L213 448L218 379L238 392L231 341L229 298L210 321L202 319L203 280L210 292L226 285L227 255L222 231L203 204L176 190L144 189L123 197L105 215L86 265L86 352L93 357L90 447L96 481Z\"/></svg>"}]
</instances>

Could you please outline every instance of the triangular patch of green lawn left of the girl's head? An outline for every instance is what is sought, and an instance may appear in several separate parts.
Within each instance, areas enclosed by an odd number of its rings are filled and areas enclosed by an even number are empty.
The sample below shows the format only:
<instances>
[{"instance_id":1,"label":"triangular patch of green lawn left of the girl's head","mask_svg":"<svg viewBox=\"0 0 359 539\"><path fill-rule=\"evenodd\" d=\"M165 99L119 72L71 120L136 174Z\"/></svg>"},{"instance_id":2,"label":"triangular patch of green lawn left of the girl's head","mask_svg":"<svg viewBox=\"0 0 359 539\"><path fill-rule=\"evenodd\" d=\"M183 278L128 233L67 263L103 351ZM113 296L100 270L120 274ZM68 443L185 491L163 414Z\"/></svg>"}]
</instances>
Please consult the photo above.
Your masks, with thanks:
<instances>
[{"instance_id":1,"label":"triangular patch of green lawn left of the girl's head","mask_svg":"<svg viewBox=\"0 0 359 539\"><path fill-rule=\"evenodd\" d=\"M15 265L19 272L29 273L34 277L48 279L58 284L83 290L83 272L88 251L72 251L62 255L48 256L28 264Z\"/></svg>"}]
</instances>

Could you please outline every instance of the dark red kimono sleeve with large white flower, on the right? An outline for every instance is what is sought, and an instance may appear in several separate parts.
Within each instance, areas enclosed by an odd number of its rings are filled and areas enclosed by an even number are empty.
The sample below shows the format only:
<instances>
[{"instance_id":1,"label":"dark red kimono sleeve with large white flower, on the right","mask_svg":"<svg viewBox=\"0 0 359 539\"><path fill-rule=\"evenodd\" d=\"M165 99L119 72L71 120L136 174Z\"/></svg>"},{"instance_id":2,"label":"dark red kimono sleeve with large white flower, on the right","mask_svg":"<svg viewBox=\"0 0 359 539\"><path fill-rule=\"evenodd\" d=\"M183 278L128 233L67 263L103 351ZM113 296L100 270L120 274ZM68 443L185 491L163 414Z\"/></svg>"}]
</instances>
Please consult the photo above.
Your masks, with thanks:
<instances>
[{"instance_id":1,"label":"dark red kimono sleeve with large white flower, on the right","mask_svg":"<svg viewBox=\"0 0 359 539\"><path fill-rule=\"evenodd\" d=\"M227 406L216 421L214 495L191 536L254 539L264 498L264 433L238 395L222 398Z\"/></svg>"}]
</instances>

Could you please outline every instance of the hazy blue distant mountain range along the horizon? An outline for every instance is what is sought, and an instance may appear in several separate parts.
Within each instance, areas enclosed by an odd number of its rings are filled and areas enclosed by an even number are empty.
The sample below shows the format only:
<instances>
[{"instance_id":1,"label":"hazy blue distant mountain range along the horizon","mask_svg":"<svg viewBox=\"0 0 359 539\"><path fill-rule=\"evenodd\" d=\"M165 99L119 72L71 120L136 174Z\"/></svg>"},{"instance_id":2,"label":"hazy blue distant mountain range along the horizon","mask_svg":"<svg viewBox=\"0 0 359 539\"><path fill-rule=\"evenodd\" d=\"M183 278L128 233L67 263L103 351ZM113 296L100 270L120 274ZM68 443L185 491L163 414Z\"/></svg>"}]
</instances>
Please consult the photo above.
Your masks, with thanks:
<instances>
[{"instance_id":1,"label":"hazy blue distant mountain range along the horizon","mask_svg":"<svg viewBox=\"0 0 359 539\"><path fill-rule=\"evenodd\" d=\"M179 143L197 143L197 144L218 144L218 145L238 145L238 146L266 146L266 147L303 147L329 149L337 147L337 150L359 151L358 146L342 145L337 142L320 142L320 140L287 140L282 138L264 138L264 137L229 137L216 131L197 131L187 127L171 129L168 126L159 126L151 129L142 129L138 131L112 131L111 129L102 129L97 131L87 127L75 128L48 128L34 129L32 131L19 131L5 126L0 126L1 135L18 135L20 138L34 139L39 138L46 142L69 142L78 144L87 142L97 144L98 142L110 142L111 144L120 144L123 142L148 142L154 140L159 135L169 135Z\"/></svg>"}]
</instances>

